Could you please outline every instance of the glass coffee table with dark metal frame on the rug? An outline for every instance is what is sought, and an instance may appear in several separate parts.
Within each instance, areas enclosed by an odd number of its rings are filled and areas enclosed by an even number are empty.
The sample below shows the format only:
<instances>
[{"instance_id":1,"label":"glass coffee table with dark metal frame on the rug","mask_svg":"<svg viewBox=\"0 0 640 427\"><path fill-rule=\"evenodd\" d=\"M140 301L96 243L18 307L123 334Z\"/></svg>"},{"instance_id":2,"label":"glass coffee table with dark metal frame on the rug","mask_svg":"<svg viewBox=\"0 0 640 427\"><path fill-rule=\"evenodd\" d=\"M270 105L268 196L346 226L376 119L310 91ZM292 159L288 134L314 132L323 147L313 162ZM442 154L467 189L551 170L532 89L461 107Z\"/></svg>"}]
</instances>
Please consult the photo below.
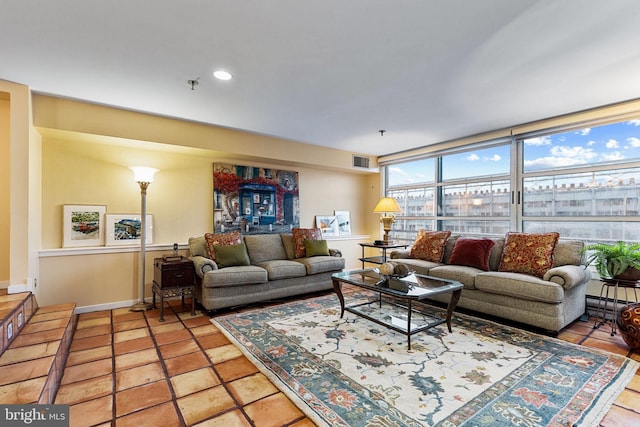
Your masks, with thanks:
<instances>
[{"instance_id":1,"label":"glass coffee table with dark metal frame on the rug","mask_svg":"<svg viewBox=\"0 0 640 427\"><path fill-rule=\"evenodd\" d=\"M383 280L373 268L334 273L331 276L333 289L340 300L340 318L345 310L368 319L407 336L407 346L411 350L411 335L417 334L442 323L447 323L451 332L451 316L462 292L462 283L454 280L411 274L402 279ZM342 284L348 283L361 289L377 293L377 299L345 305ZM415 310L413 302L442 293L451 293L445 319ZM383 298L383 297L387 298ZM413 318L412 318L413 317Z\"/></svg>"}]
</instances>

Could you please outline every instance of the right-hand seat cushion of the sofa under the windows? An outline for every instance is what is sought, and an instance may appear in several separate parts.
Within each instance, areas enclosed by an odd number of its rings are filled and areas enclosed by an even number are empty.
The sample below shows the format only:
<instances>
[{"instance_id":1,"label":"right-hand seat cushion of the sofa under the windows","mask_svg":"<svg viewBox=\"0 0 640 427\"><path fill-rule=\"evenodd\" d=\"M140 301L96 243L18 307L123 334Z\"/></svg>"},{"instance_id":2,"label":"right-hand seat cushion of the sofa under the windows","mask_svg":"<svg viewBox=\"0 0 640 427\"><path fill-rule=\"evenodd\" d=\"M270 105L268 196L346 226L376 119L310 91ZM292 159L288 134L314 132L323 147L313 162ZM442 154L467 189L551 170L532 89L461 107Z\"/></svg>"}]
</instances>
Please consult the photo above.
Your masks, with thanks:
<instances>
[{"instance_id":1,"label":"right-hand seat cushion of the sofa under the windows","mask_svg":"<svg viewBox=\"0 0 640 427\"><path fill-rule=\"evenodd\" d=\"M495 271L478 273L475 288L490 294L549 304L559 304L564 300L562 286L528 274Z\"/></svg>"}]
</instances>

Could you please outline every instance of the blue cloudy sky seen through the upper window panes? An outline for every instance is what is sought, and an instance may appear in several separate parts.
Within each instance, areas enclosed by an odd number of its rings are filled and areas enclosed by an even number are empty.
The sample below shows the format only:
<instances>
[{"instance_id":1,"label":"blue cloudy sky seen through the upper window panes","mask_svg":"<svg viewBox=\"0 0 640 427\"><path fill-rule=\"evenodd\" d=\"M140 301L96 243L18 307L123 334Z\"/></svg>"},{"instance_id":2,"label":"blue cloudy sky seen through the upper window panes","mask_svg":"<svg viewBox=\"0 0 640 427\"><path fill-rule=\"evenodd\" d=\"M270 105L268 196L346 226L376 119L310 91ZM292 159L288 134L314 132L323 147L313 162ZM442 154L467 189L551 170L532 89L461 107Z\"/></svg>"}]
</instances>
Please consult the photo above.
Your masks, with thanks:
<instances>
[{"instance_id":1,"label":"blue cloudy sky seen through the upper window panes","mask_svg":"<svg viewBox=\"0 0 640 427\"><path fill-rule=\"evenodd\" d=\"M443 179L509 173L510 147L467 151L443 158ZM524 141L524 172L640 159L640 119ZM434 181L434 160L392 165L389 184Z\"/></svg>"}]
</instances>

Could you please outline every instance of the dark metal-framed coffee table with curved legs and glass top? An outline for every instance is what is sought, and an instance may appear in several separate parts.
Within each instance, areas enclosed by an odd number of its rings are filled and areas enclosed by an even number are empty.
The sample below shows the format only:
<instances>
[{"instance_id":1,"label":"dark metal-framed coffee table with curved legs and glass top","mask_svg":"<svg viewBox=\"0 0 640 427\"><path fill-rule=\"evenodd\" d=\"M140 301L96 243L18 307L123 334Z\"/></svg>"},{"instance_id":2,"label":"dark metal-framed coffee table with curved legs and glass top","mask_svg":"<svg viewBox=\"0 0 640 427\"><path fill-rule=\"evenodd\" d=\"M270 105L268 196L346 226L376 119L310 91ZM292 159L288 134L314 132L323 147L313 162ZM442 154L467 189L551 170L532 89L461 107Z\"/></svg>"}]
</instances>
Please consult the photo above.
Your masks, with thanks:
<instances>
[{"instance_id":1,"label":"dark metal-framed coffee table with curved legs and glass top","mask_svg":"<svg viewBox=\"0 0 640 427\"><path fill-rule=\"evenodd\" d=\"M460 300L460 294L462 293L462 284L460 282L456 282L454 280L445 280L439 279L435 277L424 276L420 274L412 274L407 278L401 280L403 284L405 284L409 289L404 292L401 290L395 290L388 287L385 287L384 283L381 282L380 275L372 268L370 269L361 269L361 270L351 270L351 271L342 271L340 273L334 273L331 276L333 282L333 289L338 295L338 299L340 300L340 318L342 319L344 316L344 312L348 311L357 316L363 317L367 320L370 320L379 325L385 326L389 329L392 329L396 332L399 332L403 335L407 336L407 348L411 350L411 335L417 334L418 332L425 331L427 329L433 328L434 326L440 325L442 323L447 324L447 328L449 332L451 332L451 317L453 315L453 311ZM361 289L370 290L378 293L378 299L374 301L366 301L359 304L353 305L345 305L344 295L342 294L342 284L348 283L350 285L356 286ZM429 297L432 297L437 294L442 294L446 292L451 292L451 300L447 306L447 315L445 319L436 319L433 322L429 322L428 324L418 326L415 328L411 328L411 313L414 311L412 308L412 304L414 302L418 303L427 303L425 300ZM371 304L372 302L378 302L380 307L383 302L383 295L391 297L396 300L402 301L403 304L396 304L393 302L385 301L385 303L391 303L398 307L405 308L407 310L407 326L399 327L394 324L381 321L375 317L369 316L366 313L358 310L357 308L363 305Z\"/></svg>"}]
</instances>

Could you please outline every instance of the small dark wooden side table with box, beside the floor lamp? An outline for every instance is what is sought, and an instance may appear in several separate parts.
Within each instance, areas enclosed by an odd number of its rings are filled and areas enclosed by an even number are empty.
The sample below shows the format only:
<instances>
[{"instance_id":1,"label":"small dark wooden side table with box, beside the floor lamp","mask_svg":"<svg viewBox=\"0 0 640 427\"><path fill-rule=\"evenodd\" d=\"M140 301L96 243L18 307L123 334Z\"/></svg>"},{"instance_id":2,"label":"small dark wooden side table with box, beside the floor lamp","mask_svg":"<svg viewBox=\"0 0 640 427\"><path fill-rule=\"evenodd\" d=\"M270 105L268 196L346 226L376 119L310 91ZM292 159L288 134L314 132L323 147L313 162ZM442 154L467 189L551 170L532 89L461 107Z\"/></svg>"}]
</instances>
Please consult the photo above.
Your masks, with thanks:
<instances>
[{"instance_id":1,"label":"small dark wooden side table with box, beside the floor lamp","mask_svg":"<svg viewBox=\"0 0 640 427\"><path fill-rule=\"evenodd\" d=\"M195 269L193 261L176 256L153 260L153 308L156 295L160 296L160 321L164 322L164 299L191 295L191 315L196 314Z\"/></svg>"}]
</instances>

